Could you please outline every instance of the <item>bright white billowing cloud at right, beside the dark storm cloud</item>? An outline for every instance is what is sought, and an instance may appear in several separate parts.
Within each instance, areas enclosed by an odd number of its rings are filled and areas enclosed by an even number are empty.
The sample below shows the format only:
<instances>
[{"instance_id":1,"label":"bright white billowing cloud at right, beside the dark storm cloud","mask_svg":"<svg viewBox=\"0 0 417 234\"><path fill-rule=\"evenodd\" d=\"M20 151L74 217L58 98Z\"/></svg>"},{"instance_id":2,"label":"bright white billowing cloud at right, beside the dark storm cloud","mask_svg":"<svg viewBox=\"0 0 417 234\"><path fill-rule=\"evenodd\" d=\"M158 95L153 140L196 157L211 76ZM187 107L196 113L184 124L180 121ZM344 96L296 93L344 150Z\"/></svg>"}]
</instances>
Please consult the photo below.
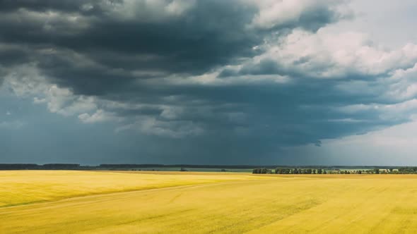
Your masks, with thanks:
<instances>
[{"instance_id":1,"label":"bright white billowing cloud at right, beside the dark storm cloud","mask_svg":"<svg viewBox=\"0 0 417 234\"><path fill-rule=\"evenodd\" d=\"M317 33L294 30L266 53L254 58L275 61L283 72L302 73L316 78L343 78L347 75L384 75L417 62L417 45L406 44L387 50L360 32ZM253 61L252 61L253 63Z\"/></svg>"}]
</instances>

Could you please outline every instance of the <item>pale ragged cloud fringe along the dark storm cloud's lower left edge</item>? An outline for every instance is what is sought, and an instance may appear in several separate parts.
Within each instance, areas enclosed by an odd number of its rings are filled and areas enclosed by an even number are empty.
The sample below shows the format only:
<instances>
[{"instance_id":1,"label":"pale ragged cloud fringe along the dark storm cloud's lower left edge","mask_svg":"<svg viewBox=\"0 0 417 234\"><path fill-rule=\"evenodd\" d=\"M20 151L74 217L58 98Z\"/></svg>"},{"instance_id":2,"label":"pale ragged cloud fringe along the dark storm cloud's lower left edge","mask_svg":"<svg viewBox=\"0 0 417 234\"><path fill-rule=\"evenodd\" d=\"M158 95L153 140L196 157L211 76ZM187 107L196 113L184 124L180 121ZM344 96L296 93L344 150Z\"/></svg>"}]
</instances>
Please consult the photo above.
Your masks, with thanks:
<instances>
[{"instance_id":1,"label":"pale ragged cloud fringe along the dark storm cloud's lower left edge","mask_svg":"<svg viewBox=\"0 0 417 234\"><path fill-rule=\"evenodd\" d=\"M6 77L5 85L19 97L33 97L34 104L46 104L47 109L52 113L58 113L62 116L78 116L81 123L113 121L121 124L117 131L139 130L139 132L146 135L174 138L201 135L204 132L201 126L192 123L192 121L176 120L182 114L181 106L128 104L76 95L68 88L58 87L50 83L45 77L39 75L35 66L20 66L16 68L13 74ZM99 105L104 109L99 108ZM147 108L162 110L160 118L165 119L165 121L157 120L155 117L127 119L117 116L117 113L106 110L141 111ZM133 121L133 123L124 123L124 121ZM22 122L4 122L1 123L0 128L17 129L23 125L24 123Z\"/></svg>"}]
</instances>

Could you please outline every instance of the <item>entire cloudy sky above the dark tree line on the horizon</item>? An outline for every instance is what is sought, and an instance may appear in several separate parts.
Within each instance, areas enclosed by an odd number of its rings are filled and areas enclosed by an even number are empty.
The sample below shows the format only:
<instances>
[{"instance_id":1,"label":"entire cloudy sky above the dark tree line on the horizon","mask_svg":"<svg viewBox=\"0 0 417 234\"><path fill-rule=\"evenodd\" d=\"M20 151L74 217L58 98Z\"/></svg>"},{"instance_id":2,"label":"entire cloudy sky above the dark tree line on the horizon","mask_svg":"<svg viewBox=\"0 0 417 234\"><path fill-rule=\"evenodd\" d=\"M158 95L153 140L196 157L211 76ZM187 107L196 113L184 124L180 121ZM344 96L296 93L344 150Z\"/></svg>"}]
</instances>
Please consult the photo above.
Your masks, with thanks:
<instances>
[{"instance_id":1,"label":"entire cloudy sky above the dark tree line on the horizon","mask_svg":"<svg viewBox=\"0 0 417 234\"><path fill-rule=\"evenodd\" d=\"M416 166L415 12L0 1L0 163Z\"/></svg>"}]
</instances>

